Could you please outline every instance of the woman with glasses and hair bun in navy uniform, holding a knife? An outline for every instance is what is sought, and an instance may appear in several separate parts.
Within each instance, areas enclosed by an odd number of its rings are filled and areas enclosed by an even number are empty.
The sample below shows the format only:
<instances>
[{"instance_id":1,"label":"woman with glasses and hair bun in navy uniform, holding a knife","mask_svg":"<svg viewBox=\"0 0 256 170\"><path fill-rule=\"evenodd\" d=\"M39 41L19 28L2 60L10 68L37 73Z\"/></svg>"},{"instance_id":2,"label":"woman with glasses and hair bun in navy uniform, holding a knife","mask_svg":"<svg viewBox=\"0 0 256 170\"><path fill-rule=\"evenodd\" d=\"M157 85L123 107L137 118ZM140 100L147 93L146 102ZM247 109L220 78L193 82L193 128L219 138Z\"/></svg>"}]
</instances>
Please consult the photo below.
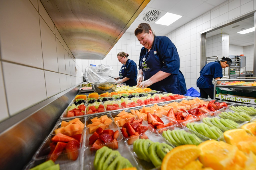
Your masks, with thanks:
<instances>
[{"instance_id":1,"label":"woman with glasses and hair bun in navy uniform, holding a knife","mask_svg":"<svg viewBox=\"0 0 256 170\"><path fill-rule=\"evenodd\" d=\"M122 63L122 67L119 71L119 77L116 77L117 83L125 83L129 86L135 86L137 84L137 65L136 63L128 59L129 54L125 52L119 52L117 55L117 60ZM119 80L120 79L120 80Z\"/></svg>"}]
</instances>

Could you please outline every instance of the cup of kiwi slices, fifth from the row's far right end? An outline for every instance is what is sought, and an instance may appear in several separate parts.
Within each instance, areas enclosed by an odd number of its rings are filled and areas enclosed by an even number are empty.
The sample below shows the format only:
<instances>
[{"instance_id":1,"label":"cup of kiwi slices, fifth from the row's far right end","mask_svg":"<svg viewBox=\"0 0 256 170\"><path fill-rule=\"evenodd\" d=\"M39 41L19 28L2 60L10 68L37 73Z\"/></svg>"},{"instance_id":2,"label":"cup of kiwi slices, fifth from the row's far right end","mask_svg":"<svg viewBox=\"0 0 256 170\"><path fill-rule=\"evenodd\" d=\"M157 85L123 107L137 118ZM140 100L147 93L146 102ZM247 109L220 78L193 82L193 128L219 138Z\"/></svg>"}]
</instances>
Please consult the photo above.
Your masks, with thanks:
<instances>
[{"instance_id":1,"label":"cup of kiwi slices, fifth from the row's far right end","mask_svg":"<svg viewBox=\"0 0 256 170\"><path fill-rule=\"evenodd\" d=\"M205 136L189 131L187 128L181 128L179 125L173 125L166 128L158 129L157 134L164 138L164 140L174 146L184 144L198 145L202 141L208 140Z\"/></svg>"}]
</instances>

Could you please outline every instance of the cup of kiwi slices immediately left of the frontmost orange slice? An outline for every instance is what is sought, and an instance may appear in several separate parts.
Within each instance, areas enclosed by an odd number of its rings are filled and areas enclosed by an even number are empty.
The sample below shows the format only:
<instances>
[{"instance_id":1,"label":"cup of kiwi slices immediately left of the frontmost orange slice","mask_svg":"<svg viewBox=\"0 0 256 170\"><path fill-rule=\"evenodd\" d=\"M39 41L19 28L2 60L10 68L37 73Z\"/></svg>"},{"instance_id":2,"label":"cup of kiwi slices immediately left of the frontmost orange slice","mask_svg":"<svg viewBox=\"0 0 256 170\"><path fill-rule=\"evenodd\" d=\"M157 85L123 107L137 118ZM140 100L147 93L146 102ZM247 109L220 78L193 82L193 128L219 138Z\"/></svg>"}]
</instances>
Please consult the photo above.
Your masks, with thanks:
<instances>
[{"instance_id":1,"label":"cup of kiwi slices immediately left of the frontmost orange slice","mask_svg":"<svg viewBox=\"0 0 256 170\"><path fill-rule=\"evenodd\" d=\"M133 158L139 163L140 169L159 168L163 157L174 148L156 133L148 133L147 136L142 134L133 138L127 138L124 142ZM134 143L129 145L129 140L134 140Z\"/></svg>"}]
</instances>

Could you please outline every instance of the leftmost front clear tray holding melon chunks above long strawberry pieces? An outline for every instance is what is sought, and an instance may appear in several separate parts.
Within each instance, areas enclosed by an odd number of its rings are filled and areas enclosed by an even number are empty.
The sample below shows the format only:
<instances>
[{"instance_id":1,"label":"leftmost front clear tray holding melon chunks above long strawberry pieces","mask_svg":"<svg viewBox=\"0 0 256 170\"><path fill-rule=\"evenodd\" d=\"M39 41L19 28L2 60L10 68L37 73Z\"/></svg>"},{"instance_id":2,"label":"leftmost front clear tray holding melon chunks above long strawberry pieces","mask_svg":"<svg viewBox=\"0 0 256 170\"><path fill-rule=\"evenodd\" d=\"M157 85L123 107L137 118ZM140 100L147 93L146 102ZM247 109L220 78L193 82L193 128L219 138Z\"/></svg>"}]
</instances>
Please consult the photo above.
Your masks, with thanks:
<instances>
[{"instance_id":1,"label":"leftmost front clear tray holding melon chunks above long strawberry pieces","mask_svg":"<svg viewBox=\"0 0 256 170\"><path fill-rule=\"evenodd\" d=\"M77 126L79 125L79 127ZM55 126L33 156L33 160L52 160L61 169L79 169L83 146L84 124L75 118Z\"/></svg>"}]
</instances>

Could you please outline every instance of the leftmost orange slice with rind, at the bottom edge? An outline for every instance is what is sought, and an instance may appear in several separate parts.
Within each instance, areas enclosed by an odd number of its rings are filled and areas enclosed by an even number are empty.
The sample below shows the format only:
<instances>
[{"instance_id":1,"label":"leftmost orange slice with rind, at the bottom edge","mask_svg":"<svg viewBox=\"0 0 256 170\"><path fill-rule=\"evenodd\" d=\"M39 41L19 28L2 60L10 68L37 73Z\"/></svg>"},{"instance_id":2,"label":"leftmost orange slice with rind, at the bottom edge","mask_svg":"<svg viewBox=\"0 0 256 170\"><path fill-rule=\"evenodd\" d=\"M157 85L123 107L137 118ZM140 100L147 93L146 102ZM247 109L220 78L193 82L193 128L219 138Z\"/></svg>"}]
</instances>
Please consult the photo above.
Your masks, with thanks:
<instances>
[{"instance_id":1,"label":"leftmost orange slice with rind, at the bottom edge","mask_svg":"<svg viewBox=\"0 0 256 170\"><path fill-rule=\"evenodd\" d=\"M187 164L195 161L200 155L200 149L196 145L181 145L168 152L162 162L161 170L181 170Z\"/></svg>"}]
</instances>

